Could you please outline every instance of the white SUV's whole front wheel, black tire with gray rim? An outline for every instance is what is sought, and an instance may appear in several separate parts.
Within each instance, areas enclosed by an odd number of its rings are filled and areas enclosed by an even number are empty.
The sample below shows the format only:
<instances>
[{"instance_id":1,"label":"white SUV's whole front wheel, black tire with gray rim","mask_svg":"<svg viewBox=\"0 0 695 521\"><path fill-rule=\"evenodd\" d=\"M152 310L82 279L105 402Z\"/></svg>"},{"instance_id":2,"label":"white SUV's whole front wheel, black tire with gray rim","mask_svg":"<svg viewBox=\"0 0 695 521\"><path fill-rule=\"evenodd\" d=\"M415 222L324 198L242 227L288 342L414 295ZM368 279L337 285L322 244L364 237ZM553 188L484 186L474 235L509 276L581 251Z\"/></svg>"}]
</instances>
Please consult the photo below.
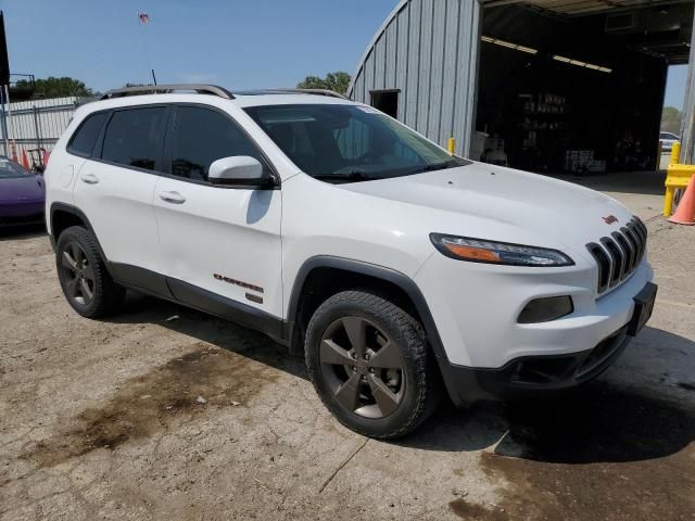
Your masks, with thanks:
<instances>
[{"instance_id":1,"label":"white SUV's whole front wheel, black tire with gray rim","mask_svg":"<svg viewBox=\"0 0 695 521\"><path fill-rule=\"evenodd\" d=\"M366 340L353 341L353 336ZM367 356L362 358L366 361L358 361L354 345L359 344L365 346L362 353ZM422 327L401 307L368 291L344 291L318 307L306 331L305 356L321 402L343 425L365 436L404 436L440 402L440 374ZM376 368L368 367L370 359ZM384 369L388 365L400 365L400 369Z\"/></svg>"}]
</instances>

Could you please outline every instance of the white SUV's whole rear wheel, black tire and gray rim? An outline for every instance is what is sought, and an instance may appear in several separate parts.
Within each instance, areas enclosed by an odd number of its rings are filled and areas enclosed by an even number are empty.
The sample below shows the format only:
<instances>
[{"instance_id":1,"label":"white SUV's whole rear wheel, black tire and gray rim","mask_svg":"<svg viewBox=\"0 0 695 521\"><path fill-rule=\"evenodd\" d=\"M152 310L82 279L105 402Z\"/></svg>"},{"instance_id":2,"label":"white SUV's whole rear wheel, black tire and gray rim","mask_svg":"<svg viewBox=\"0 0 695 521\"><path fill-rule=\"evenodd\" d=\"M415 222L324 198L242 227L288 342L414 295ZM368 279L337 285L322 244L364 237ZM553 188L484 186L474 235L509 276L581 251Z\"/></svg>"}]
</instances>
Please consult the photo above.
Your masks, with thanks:
<instances>
[{"instance_id":1,"label":"white SUV's whole rear wheel, black tire and gray rim","mask_svg":"<svg viewBox=\"0 0 695 521\"><path fill-rule=\"evenodd\" d=\"M125 296L101 258L97 240L85 228L73 226L58 239L55 267L67 303L86 318L114 314Z\"/></svg>"}]
</instances>

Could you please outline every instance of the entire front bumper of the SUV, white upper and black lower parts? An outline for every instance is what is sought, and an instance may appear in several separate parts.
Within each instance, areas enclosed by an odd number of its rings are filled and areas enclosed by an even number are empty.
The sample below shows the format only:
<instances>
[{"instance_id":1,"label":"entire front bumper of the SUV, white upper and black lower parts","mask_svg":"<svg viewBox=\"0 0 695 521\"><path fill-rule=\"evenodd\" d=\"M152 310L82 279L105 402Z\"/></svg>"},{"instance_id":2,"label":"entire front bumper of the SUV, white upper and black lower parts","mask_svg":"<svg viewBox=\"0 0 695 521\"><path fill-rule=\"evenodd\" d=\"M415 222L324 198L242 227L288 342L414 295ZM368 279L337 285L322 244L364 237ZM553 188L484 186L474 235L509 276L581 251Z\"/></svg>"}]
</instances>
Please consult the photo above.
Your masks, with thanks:
<instances>
[{"instance_id":1,"label":"entire front bumper of the SUV, white upper and black lower parts","mask_svg":"<svg viewBox=\"0 0 695 521\"><path fill-rule=\"evenodd\" d=\"M596 276L596 266L583 262L519 269L430 257L415 281L432 315L439 336L432 344L441 343L434 351L454 403L566 389L608 368L629 343L634 297L654 274L643 259L602 296ZM571 314L518 322L531 300L560 295L572 298Z\"/></svg>"}]
</instances>

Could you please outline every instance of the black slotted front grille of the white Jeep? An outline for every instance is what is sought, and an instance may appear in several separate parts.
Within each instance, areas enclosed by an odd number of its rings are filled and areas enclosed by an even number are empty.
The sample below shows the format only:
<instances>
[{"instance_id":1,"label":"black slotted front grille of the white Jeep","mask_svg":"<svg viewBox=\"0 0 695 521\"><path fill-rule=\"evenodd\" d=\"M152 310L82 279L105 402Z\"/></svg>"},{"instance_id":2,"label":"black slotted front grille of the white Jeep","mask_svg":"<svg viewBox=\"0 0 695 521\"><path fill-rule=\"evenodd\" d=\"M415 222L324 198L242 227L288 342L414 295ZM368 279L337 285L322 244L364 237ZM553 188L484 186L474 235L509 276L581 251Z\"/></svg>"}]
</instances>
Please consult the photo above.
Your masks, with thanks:
<instances>
[{"instance_id":1,"label":"black slotted front grille of the white Jeep","mask_svg":"<svg viewBox=\"0 0 695 521\"><path fill-rule=\"evenodd\" d=\"M630 277L644 257L647 247L647 228L633 217L620 231L586 244L598 266L596 291L605 293Z\"/></svg>"}]
</instances>

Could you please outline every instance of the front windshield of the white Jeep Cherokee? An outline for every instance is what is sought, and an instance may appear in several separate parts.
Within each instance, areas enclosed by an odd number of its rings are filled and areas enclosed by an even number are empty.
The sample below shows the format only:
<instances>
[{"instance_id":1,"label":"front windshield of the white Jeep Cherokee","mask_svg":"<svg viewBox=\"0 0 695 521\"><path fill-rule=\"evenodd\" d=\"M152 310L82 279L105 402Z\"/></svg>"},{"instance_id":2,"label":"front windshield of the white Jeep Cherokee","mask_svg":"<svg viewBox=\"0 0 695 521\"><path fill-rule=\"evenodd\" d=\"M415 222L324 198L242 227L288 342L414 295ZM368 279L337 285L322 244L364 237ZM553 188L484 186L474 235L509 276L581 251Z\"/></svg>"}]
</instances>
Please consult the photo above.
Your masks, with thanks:
<instances>
[{"instance_id":1,"label":"front windshield of the white Jeep Cherokee","mask_svg":"<svg viewBox=\"0 0 695 521\"><path fill-rule=\"evenodd\" d=\"M296 166L329 182L384 179L468 164L366 105L267 105L245 111Z\"/></svg>"}]
</instances>

